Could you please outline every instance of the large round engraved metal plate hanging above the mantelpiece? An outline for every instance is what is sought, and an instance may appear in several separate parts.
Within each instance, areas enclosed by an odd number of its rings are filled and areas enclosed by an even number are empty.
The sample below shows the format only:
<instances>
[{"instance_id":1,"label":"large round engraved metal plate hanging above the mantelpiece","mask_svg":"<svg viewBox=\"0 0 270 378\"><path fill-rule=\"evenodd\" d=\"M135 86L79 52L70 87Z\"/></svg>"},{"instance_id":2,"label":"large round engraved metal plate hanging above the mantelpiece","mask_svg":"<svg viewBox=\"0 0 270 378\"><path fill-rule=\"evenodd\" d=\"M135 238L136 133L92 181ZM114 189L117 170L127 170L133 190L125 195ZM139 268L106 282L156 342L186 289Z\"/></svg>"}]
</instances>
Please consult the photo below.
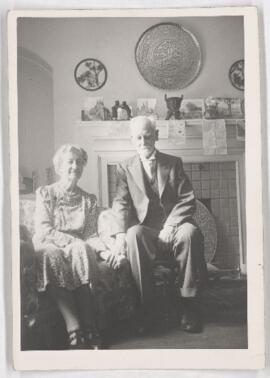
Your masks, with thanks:
<instances>
[{"instance_id":1,"label":"large round engraved metal plate hanging above the mantelpiece","mask_svg":"<svg viewBox=\"0 0 270 378\"><path fill-rule=\"evenodd\" d=\"M162 23L143 33L135 58L149 84L166 90L181 89L198 75L201 49L191 32L175 23Z\"/></svg>"}]
</instances>

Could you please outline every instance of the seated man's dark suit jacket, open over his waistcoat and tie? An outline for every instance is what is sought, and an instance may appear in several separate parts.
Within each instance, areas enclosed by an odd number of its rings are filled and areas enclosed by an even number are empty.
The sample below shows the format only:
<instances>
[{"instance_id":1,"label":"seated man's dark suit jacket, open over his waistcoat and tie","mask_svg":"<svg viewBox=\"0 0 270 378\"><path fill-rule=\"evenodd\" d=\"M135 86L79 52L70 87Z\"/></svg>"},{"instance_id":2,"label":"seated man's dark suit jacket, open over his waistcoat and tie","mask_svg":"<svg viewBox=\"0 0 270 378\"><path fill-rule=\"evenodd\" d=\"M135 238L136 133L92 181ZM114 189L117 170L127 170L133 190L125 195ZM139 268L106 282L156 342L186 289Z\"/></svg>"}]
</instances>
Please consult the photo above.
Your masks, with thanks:
<instances>
[{"instance_id":1,"label":"seated man's dark suit jacket, open over his waistcoat and tie","mask_svg":"<svg viewBox=\"0 0 270 378\"><path fill-rule=\"evenodd\" d=\"M192 222L195 197L183 170L182 160L159 151L156 159L160 201L167 218L164 227ZM113 211L117 218L114 234L127 231L132 215L137 218L137 222L132 222L133 224L142 224L149 205L143 165L138 154L121 162L117 174L117 192L113 201Z\"/></svg>"}]
</instances>

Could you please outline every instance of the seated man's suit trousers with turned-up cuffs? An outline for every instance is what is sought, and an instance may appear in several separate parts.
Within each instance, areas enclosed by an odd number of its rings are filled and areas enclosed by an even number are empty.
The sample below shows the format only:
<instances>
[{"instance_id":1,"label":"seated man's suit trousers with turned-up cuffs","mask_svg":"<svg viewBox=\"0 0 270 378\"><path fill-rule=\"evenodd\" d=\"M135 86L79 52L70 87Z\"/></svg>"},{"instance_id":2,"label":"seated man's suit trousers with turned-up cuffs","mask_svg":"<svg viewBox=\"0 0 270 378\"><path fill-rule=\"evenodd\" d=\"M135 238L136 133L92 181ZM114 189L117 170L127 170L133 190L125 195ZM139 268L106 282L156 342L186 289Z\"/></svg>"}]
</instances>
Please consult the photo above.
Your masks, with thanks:
<instances>
[{"instance_id":1,"label":"seated man's suit trousers with turned-up cuffs","mask_svg":"<svg viewBox=\"0 0 270 378\"><path fill-rule=\"evenodd\" d=\"M158 248L158 234L158 230L144 225L135 225L127 232L128 259L142 304L153 301L155 266L172 262L178 271L177 290L181 297L197 296L200 279L207 275L201 231L188 222L175 227L168 248L162 251Z\"/></svg>"}]
</instances>

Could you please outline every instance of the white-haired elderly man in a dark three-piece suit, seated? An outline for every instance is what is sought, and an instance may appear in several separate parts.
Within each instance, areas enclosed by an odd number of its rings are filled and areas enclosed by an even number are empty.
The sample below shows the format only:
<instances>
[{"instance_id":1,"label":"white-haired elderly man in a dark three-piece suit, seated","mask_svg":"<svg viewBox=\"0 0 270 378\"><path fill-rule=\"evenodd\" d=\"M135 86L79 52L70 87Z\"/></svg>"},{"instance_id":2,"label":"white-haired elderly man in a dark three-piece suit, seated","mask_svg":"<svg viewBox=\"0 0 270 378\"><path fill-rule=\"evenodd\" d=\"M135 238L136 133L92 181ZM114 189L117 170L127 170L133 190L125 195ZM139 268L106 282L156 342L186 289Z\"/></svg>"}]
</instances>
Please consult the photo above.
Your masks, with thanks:
<instances>
[{"instance_id":1,"label":"white-haired elderly man in a dark three-piece suit, seated","mask_svg":"<svg viewBox=\"0 0 270 378\"><path fill-rule=\"evenodd\" d=\"M137 154L118 166L113 202L117 217L115 252L123 254L127 250L146 324L151 324L153 268L158 260L173 259L179 273L181 327L187 332L198 332L201 319L196 300L197 273L200 267L205 271L206 266L203 237L192 217L192 186L182 160L155 148L158 130L154 120L145 116L133 118L130 129ZM130 227L131 214L136 220Z\"/></svg>"}]
</instances>

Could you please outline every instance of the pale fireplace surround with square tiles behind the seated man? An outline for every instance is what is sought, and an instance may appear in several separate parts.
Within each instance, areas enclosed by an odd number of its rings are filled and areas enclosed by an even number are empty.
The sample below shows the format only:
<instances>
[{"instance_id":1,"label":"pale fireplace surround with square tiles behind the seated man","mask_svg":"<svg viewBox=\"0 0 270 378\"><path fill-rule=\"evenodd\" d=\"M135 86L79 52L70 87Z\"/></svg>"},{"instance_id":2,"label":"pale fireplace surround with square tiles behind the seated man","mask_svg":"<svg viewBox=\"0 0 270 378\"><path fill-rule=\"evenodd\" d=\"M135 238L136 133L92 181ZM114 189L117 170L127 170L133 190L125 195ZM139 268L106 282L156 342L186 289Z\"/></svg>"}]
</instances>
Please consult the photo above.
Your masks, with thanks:
<instances>
[{"instance_id":1,"label":"pale fireplace surround with square tiles behind the seated man","mask_svg":"<svg viewBox=\"0 0 270 378\"><path fill-rule=\"evenodd\" d=\"M245 273L244 142L236 139L233 120L226 121L227 155L205 155L201 121L189 120L186 142L175 145L167 136L167 121L157 121L157 148L181 156L196 196L212 213L218 232L213 260L220 269ZM127 122L77 122L75 139L89 156L83 187L110 206L116 190L116 163L134 154ZM89 179L90 178L90 179Z\"/></svg>"}]
</instances>

